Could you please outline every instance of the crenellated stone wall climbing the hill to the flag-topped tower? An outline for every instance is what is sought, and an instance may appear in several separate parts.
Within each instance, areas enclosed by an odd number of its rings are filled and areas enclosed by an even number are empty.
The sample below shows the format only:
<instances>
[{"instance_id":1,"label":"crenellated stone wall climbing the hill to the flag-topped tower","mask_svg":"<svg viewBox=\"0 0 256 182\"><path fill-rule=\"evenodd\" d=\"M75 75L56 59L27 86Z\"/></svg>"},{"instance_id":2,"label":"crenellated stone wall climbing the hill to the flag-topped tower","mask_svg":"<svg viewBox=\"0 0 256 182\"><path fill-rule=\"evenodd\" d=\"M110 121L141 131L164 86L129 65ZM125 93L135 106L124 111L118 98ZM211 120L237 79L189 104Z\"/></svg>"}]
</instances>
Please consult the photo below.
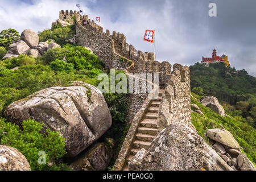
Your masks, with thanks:
<instances>
[{"instance_id":1,"label":"crenellated stone wall climbing the hill to the flag-topped tower","mask_svg":"<svg viewBox=\"0 0 256 182\"><path fill-rule=\"evenodd\" d=\"M73 22L73 16L76 22ZM99 26L88 15L81 15L77 11L60 11L60 19L70 23L76 23L76 42L80 46L90 47L96 55L105 61L107 68L126 69L130 66L128 61L135 63L136 72L162 72L171 73L171 64L168 62L159 63L154 60L154 53L137 51L133 45L126 42L126 36L120 32L113 31ZM83 24L85 22L85 24ZM154 63L153 63L154 62Z\"/></svg>"}]
</instances>

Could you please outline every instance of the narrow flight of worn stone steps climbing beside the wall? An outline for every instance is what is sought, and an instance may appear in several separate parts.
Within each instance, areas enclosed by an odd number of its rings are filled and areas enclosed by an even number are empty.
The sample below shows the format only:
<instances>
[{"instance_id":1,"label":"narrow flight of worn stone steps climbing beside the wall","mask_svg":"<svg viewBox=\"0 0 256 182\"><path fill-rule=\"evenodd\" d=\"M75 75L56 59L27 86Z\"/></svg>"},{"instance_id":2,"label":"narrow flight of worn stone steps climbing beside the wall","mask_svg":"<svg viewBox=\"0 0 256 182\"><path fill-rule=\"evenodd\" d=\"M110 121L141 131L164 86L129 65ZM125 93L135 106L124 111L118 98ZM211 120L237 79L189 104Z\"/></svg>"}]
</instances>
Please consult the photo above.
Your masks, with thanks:
<instances>
[{"instance_id":1,"label":"narrow flight of worn stone steps climbing beside the wall","mask_svg":"<svg viewBox=\"0 0 256 182\"><path fill-rule=\"evenodd\" d=\"M123 171L128 171L128 162L137 154L139 150L144 148L148 150L156 134L158 133L158 111L159 105L162 101L163 90L159 90L159 97L152 100L150 107L144 117L139 123L137 132L135 133L135 139L131 146L130 155L127 158L126 164L123 167Z\"/></svg>"}]
</instances>

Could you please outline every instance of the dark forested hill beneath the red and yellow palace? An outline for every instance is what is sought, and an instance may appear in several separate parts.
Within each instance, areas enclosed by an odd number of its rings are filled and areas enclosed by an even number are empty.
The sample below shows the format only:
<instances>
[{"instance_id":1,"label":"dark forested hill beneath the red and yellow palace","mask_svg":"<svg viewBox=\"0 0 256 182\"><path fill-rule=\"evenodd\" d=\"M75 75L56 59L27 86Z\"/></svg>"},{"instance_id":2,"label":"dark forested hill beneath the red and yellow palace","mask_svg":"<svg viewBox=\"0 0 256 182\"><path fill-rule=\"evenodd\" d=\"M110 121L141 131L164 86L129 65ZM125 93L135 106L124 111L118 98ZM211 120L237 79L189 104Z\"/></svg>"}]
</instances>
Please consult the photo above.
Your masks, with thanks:
<instances>
[{"instance_id":1,"label":"dark forested hill beneath the red and yellow palace","mask_svg":"<svg viewBox=\"0 0 256 182\"><path fill-rule=\"evenodd\" d=\"M244 69L237 71L224 63L196 63L190 67L191 90L200 96L215 96L226 113L241 116L255 129L256 80Z\"/></svg>"}]
</instances>

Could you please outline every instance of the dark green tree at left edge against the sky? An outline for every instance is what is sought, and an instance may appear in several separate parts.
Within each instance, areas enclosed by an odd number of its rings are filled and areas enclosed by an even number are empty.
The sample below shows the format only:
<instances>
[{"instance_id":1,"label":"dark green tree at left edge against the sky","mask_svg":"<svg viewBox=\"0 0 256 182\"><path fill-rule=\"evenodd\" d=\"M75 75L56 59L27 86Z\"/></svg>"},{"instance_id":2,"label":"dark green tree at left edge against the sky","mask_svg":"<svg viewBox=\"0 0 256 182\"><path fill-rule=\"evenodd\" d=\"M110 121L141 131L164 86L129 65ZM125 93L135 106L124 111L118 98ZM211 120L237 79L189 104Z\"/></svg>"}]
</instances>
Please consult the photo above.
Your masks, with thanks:
<instances>
[{"instance_id":1,"label":"dark green tree at left edge against the sky","mask_svg":"<svg viewBox=\"0 0 256 182\"><path fill-rule=\"evenodd\" d=\"M8 30L3 30L0 32L0 46L5 47L5 49L8 49L11 42L13 42L14 39L19 38L19 32L17 32L16 30L11 28L9 28Z\"/></svg>"}]
</instances>

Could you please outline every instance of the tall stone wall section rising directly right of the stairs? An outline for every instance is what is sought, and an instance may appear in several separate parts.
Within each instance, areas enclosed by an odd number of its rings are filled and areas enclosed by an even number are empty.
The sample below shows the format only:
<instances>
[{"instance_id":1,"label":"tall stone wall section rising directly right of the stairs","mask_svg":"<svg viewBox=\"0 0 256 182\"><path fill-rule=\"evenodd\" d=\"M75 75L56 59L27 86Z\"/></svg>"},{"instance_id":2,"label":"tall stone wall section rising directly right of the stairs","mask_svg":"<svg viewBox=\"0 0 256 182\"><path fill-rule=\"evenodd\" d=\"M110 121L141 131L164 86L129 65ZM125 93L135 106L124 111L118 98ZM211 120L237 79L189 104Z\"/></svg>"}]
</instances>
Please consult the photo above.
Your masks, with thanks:
<instances>
[{"instance_id":1,"label":"tall stone wall section rising directly right of the stairs","mask_svg":"<svg viewBox=\"0 0 256 182\"><path fill-rule=\"evenodd\" d=\"M189 68L174 64L159 107L159 130L173 122L191 126L190 92Z\"/></svg>"}]
</instances>

